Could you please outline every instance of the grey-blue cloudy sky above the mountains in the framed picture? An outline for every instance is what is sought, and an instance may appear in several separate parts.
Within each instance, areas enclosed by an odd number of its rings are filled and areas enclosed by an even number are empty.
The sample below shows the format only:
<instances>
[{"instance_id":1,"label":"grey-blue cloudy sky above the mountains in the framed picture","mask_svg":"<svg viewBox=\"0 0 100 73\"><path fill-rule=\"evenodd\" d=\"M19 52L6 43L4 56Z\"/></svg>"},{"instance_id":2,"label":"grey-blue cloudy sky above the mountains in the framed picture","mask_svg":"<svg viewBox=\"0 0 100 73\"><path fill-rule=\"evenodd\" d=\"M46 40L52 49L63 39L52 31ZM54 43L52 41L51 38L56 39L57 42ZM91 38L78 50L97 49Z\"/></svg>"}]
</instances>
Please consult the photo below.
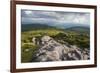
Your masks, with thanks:
<instances>
[{"instance_id":1,"label":"grey-blue cloudy sky above the mountains in the framed picture","mask_svg":"<svg viewBox=\"0 0 100 73\"><path fill-rule=\"evenodd\" d=\"M21 10L22 24L42 23L52 26L89 26L90 14L86 12Z\"/></svg>"}]
</instances>

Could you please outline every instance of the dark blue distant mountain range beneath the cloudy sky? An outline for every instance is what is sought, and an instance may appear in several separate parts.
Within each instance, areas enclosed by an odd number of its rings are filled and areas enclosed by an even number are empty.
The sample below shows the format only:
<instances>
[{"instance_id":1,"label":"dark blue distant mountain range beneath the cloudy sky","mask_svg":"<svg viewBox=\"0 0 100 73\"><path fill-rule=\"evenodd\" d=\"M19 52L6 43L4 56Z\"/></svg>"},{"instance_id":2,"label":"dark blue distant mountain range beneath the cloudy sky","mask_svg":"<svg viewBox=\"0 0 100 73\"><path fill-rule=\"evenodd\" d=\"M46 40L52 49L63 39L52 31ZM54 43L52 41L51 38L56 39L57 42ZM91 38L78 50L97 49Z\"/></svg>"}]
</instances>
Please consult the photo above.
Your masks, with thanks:
<instances>
[{"instance_id":1,"label":"dark blue distant mountain range beneath the cloudy sky","mask_svg":"<svg viewBox=\"0 0 100 73\"><path fill-rule=\"evenodd\" d=\"M48 25L48 24L40 24L40 23L34 23L34 24L22 24L22 31L31 31L36 29L63 29L63 30L70 30L70 31L81 31L81 32L89 32L90 27L89 26L79 26L75 24L68 24L68 26L62 24L63 26L57 26L57 25ZM73 26L72 26L73 25Z\"/></svg>"}]
</instances>

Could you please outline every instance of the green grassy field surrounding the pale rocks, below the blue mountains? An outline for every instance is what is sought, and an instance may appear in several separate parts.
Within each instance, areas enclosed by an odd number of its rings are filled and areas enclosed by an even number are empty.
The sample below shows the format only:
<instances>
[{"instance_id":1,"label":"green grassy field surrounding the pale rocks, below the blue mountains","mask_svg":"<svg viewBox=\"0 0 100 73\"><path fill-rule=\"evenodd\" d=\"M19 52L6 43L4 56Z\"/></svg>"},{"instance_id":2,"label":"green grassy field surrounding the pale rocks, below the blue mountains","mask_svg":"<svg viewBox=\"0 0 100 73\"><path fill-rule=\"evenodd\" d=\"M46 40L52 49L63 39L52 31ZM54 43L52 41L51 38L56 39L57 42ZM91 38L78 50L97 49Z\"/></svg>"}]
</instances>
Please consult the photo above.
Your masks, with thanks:
<instances>
[{"instance_id":1,"label":"green grassy field surrounding the pale rocks, below the blue mountains","mask_svg":"<svg viewBox=\"0 0 100 73\"><path fill-rule=\"evenodd\" d=\"M32 43L32 38L41 38L44 35L48 35L54 38L61 44L77 45L84 49L90 47L90 40L88 33L80 33L70 30L60 29L36 29L31 31L23 31L21 33L21 62L30 62L35 51L39 49L40 45Z\"/></svg>"}]
</instances>

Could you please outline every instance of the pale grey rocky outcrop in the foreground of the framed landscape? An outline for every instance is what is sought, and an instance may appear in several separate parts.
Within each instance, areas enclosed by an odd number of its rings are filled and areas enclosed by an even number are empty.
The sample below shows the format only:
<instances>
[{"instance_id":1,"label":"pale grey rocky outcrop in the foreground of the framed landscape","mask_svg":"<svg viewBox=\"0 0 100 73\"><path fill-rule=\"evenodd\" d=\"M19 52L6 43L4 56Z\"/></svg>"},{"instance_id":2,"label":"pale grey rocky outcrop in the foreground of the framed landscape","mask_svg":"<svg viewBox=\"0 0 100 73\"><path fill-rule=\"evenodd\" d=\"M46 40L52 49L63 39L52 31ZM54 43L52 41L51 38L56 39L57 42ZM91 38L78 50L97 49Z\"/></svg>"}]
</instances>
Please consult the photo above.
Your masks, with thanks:
<instances>
[{"instance_id":1,"label":"pale grey rocky outcrop in the foreground of the framed landscape","mask_svg":"<svg viewBox=\"0 0 100 73\"><path fill-rule=\"evenodd\" d=\"M41 46L33 54L31 62L67 61L67 60L88 60L89 50L65 45L55 41L49 36L41 38Z\"/></svg>"}]
</instances>

